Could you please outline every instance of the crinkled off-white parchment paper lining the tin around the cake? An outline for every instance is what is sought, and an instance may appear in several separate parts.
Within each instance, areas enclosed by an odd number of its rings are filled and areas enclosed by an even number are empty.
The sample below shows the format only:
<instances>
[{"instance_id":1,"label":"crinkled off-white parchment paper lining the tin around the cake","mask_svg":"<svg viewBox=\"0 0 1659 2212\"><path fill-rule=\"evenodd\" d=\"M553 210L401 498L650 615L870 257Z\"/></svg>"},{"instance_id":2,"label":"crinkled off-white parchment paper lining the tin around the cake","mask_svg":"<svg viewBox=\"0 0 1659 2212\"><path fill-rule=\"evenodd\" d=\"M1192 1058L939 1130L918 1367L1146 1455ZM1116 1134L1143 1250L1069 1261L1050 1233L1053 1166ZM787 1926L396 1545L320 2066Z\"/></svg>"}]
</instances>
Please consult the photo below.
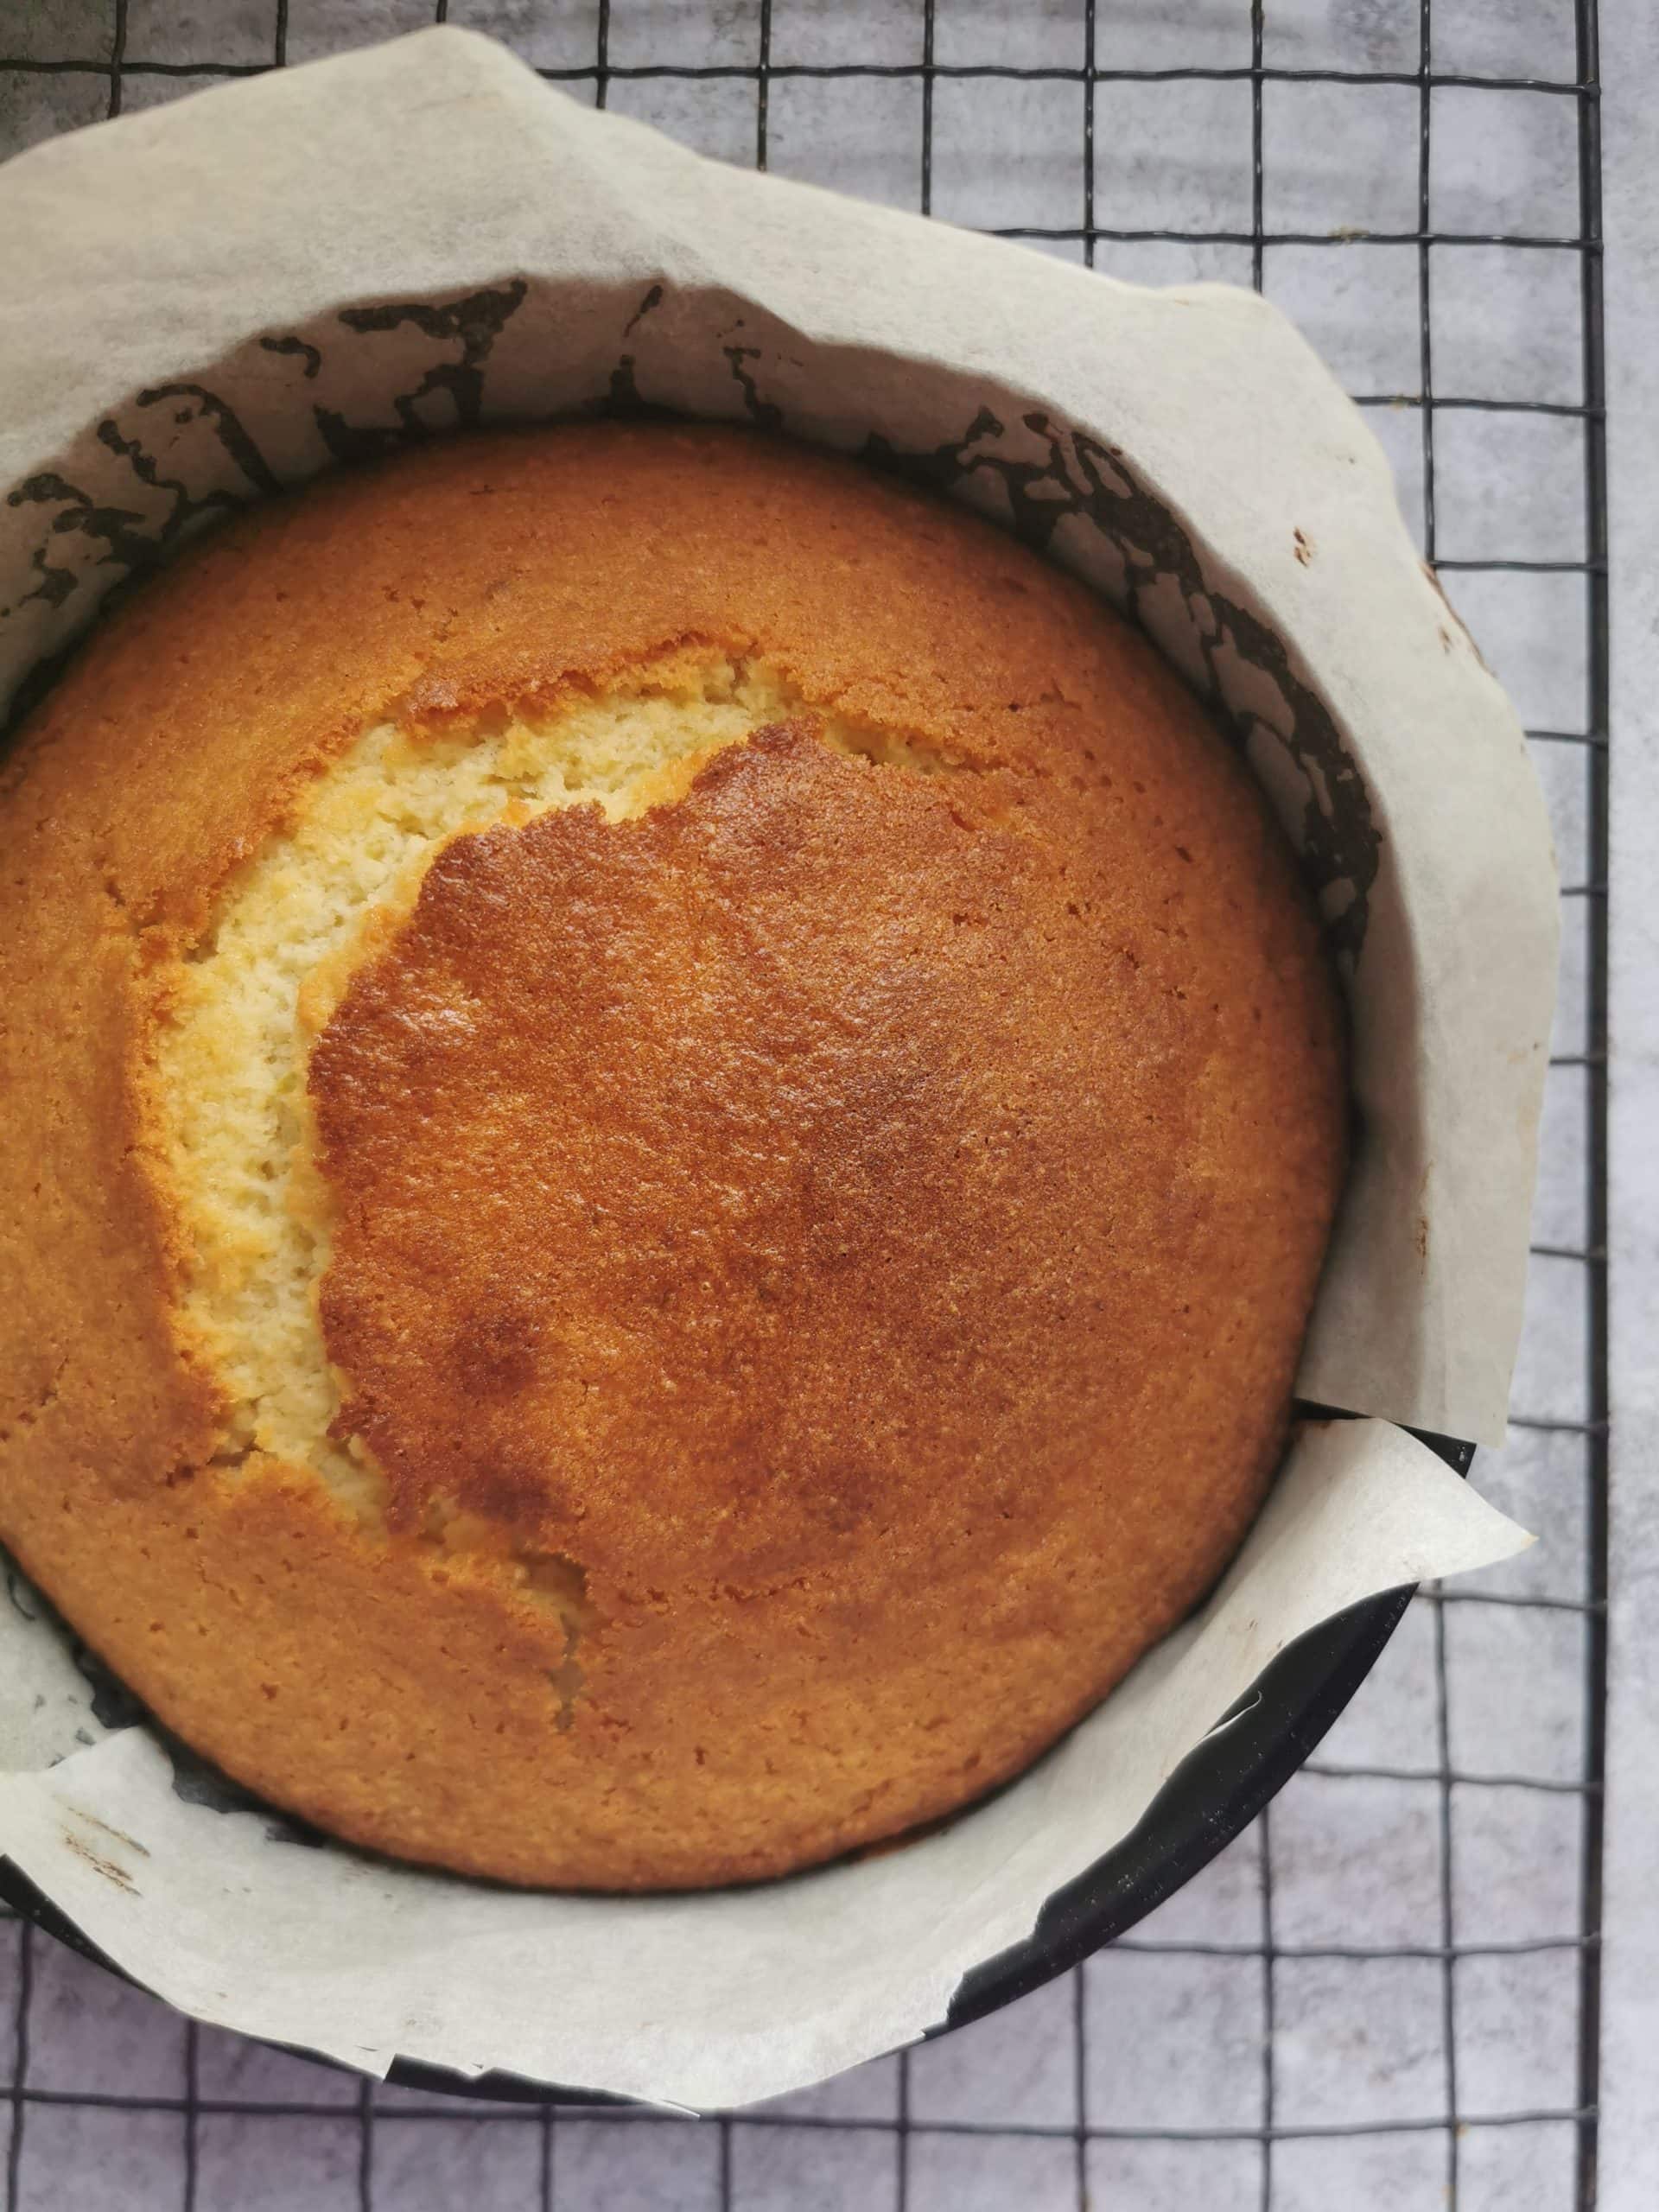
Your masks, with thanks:
<instances>
[{"instance_id":1,"label":"crinkled off-white parchment paper lining the tin around the cake","mask_svg":"<svg viewBox=\"0 0 1659 2212\"><path fill-rule=\"evenodd\" d=\"M524 1896L301 1847L133 1725L13 1579L0 1849L175 2004L686 2106L918 2035L1296 1635L1526 1537L1391 1422L1495 1440L1555 956L1513 710L1383 453L1245 292L1148 292L750 177L427 31L0 175L0 695L108 584L456 425L668 407L867 453L1108 593L1232 723L1349 989L1365 1137L1307 1429L1203 1615L942 1834L743 1893Z\"/></svg>"}]
</instances>

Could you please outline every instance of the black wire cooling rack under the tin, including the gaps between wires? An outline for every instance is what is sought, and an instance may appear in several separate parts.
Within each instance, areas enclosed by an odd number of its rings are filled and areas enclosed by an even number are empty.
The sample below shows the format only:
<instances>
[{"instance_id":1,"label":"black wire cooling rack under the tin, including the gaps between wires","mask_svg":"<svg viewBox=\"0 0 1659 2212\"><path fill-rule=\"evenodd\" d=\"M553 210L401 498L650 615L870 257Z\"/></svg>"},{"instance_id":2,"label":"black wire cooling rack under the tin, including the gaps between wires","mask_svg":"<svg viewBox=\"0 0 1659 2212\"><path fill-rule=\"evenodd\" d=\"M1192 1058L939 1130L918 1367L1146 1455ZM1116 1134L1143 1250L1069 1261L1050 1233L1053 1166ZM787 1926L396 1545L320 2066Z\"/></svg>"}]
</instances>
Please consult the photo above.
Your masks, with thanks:
<instances>
[{"instance_id":1,"label":"black wire cooling rack under the tin, including the gaps between wires","mask_svg":"<svg viewBox=\"0 0 1659 2212\"><path fill-rule=\"evenodd\" d=\"M737 2119L358 2084L181 2022L7 1916L7 2212L420 2212L462 2192L482 2212L1588 2212L1608 1436L1595 0L1057 0L1024 18L980 0L11 0L0 150L429 20L491 29L544 77L728 159L909 199L1091 268L1250 281L1338 356L1425 555L1522 703L1564 856L1522 1413L1478 1467L1551 1548L1425 1593L1325 1756L1144 1933L975 2028ZM1442 51L1458 66L1436 66ZM1000 88L1002 135L969 131L964 155L969 86ZM1301 102L1301 135L1281 128L1296 113L1281 102ZM1024 157L1053 166L1062 111L1082 131L1075 206L1033 208ZM1248 161L1239 212L1164 206L1181 197L1181 133L1190 150L1223 111ZM1568 175L1533 219L1544 144ZM1298 161L1310 146L1323 170ZM1345 164L1391 164L1409 206L1396 192L1394 215L1321 223L1352 197ZM1285 166L1290 195L1274 190ZM1305 170L1332 201L1312 219ZM1464 221L1469 206L1486 219ZM1148 219L1110 226L1099 208ZM1349 283L1378 250L1387 283ZM1369 374L1385 356L1394 374Z\"/></svg>"}]
</instances>

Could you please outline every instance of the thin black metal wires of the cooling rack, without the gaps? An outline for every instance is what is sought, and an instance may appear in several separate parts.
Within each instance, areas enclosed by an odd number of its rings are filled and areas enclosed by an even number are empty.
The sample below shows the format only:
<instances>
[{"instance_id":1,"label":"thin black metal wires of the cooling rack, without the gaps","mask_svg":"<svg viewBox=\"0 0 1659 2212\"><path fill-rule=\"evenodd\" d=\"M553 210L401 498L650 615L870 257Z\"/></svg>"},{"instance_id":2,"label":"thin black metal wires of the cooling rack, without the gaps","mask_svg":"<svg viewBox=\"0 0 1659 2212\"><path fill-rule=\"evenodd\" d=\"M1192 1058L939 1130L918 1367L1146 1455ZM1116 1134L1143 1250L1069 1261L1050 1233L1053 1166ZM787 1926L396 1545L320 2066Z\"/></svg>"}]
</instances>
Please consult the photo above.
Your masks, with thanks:
<instances>
[{"instance_id":1,"label":"thin black metal wires of the cooling rack, without the gaps","mask_svg":"<svg viewBox=\"0 0 1659 2212\"><path fill-rule=\"evenodd\" d=\"M1298 1944L1287 1942L1276 1927L1274 1891L1274 1820L1267 1812L1256 1825L1259 1867L1259 1938L1250 1942L1181 1942L1157 1936L1159 1922L1148 1922L1148 1933L1117 1944L1119 1953L1144 1958L1217 1958L1261 1962L1261 2119L1254 2126L1186 2126L1186 2128L1135 2128L1113 2126L1102 2115L1091 2115L1091 2062L1084 1971L1073 1975L1071 1986L1071 2088L1075 2117L1066 2124L1035 2124L1006 2119L940 2119L929 2115L927 2130L949 2137L1022 2137L1053 2139L1073 2146L1073 2170L1077 2205L1088 2203L1091 2146L1099 2143L1254 2143L1261 2150L1263 2212L1274 2208L1274 2146L1314 2139L1356 2139L1389 2135L1440 2135L1444 2139L1444 2203L1453 2208L1464 2181L1462 2163L1471 2132L1498 2130L1531 2124L1559 2124L1575 2132L1577 2174L1573 2203L1577 2212L1595 2205L1595 2159L1597 2159L1597 2033L1599 2033L1599 1971L1601 1971L1601 1785L1604 1785L1604 1705L1606 1705L1606 1464L1608 1464L1608 1385L1606 1385L1606 880L1608 880L1608 540L1606 540L1606 378L1601 338L1601 148L1599 148L1599 53L1597 53L1597 4L1595 0L1559 0L1564 18L1571 18L1575 38L1575 64L1571 77L1537 75L1480 75L1455 69L1436 69L1433 55L1433 0L1418 0L1418 69L1301 69L1267 60L1267 7L1252 0L1250 7L1250 60L1212 66L1102 66L1097 7L1084 4L1082 64L1079 66L1015 66L1002 62L940 62L938 60L938 7L925 0L920 20L920 51L914 62L776 62L776 27L772 0L759 0L757 53L752 62L628 62L611 58L613 11L611 0L599 0L595 24L593 62L584 66L542 69L542 75L573 86L593 86L597 106L606 106L615 84L646 80L721 82L737 80L754 86L754 164L768 168L774 146L772 86L779 82L836 82L836 80L898 80L920 88L920 177L918 206L929 212L933 206L933 139L936 139L936 91L945 82L962 80L1009 80L1020 84L1077 84L1082 86L1082 206L1075 226L1009 226L1002 237L1018 237L1035 243L1079 246L1082 259L1095 265L1102 246L1157 241L1157 243L1201 243L1248 248L1250 279L1261 290L1270 254L1285 246L1318 246L1343 252L1354 246L1402 246L1416 254L1416 312L1418 312L1418 372L1420 389L1407 394L1358 394L1358 405L1367 409L1416 409L1420 422L1422 458L1422 524L1425 553L1431 564L1447 573L1520 573L1577 577L1586 595L1588 615L1588 697L1584 701L1584 728L1535 728L1528 739L1544 745L1577 748L1586 763L1588 792L1588 852L1586 876L1566 887L1564 896L1582 900L1586 916L1586 993L1588 1020L1582 1051L1555 1053L1553 1068L1577 1068L1586 1086L1586 1230L1582 1243L1537 1243L1540 1259L1571 1261L1582 1267L1586 1301L1586 1345L1588 1371L1584 1394L1584 1416L1564 1418L1548 1409L1522 1409L1513 1418L1513 1429L1537 1438L1577 1440L1586 1455L1586 1540L1588 1540L1588 1584L1582 1599L1535 1597L1486 1590L1440 1590L1429 1595L1433 1617L1433 1763L1389 1765L1354 1763L1340 1759L1314 1759L1305 1772L1338 1781L1380 1781L1400 1785L1422 1785L1436 1792L1438 1807L1438 1920L1433 1940L1413 1944ZM549 0L553 13L557 0ZM126 0L113 0L108 60L66 55L42 60L33 55L0 55L0 86L9 77L104 77L108 84L108 115L119 115L124 86L133 80L168 77L246 77L263 69L281 69L288 60L288 0L274 0L270 58L221 60L153 60L131 55L131 24ZM434 20L449 18L449 0L434 0ZM2 33L0 33L2 35ZM1108 84L1248 84L1250 88L1250 228L1108 228L1097 221L1095 206L1095 153L1097 153L1097 91ZM1411 230L1272 230L1265 221L1267 208L1267 137L1263 108L1267 86L1402 86L1418 95L1416 102L1416 226ZM1566 237L1540 230L1471 232L1433 226L1433 95L1440 91L1480 91L1493 97L1511 93L1535 93L1571 102L1577 119L1577 208L1575 228ZM1500 398L1480 392L1444 394L1436 389L1433 363L1433 285L1436 250L1449 246L1495 246L1515 252L1571 252L1579 263L1582 285L1582 396L1566 398ZM1438 557L1438 422L1455 414L1491 416L1557 416L1577 420L1584 427L1584 555L1575 560L1535 557L1486 557L1444 560ZM1469 1772L1453 1761L1453 1730L1447 1668L1449 1608L1522 1608L1542 1617L1577 1617L1586 1648L1586 1703L1584 1703L1584 1756L1573 1776ZM1458 1849L1458 1825L1453 1818L1455 1790L1517 1790L1540 1798L1575 1798L1582 1807L1584 1858L1577 1927L1557 1936L1473 1942L1460 1940L1455 1913L1453 1858ZM11 1916L0 1909L0 1927ZM15 1931L18 1969L11 1991L9 2022L13 2033L13 2081L4 2090L4 2106L11 2117L11 2141L4 2161L4 2205L7 2212L31 2212L31 2205L49 2199L24 2197L24 2152L27 2121L31 2112L49 2108L91 2108L104 2112L177 2115L181 2124L181 2168L179 2201L184 2212L195 2212L201 2190L199 2137L204 2117L250 2115L263 2119L338 2121L352 2108L323 2097L257 2101L237 2097L212 2097L201 2093L199 2048L201 2037L195 2024L184 2042L184 2081L173 2095L122 2095L93 2088L53 2088L31 2084L31 2008L38 1993L38 1947L44 1944L35 1929L22 1924ZM1471 2112L1460 2101L1458 2079L1458 1969L1480 1958L1522 1958L1559 1953L1577 1960L1577 2066L1575 2095L1559 2106L1526 2106L1520 2110ZM1391 2117L1371 2121L1321 2121L1294 2124L1283 2119L1283 2084L1279 2079L1279 1969L1296 1960L1420 1960L1440 1971L1440 2033L1444 2044L1444 2110L1418 2117ZM398 2104L396 2119L445 2121L462 2110L465 2117L487 2117L491 2126L540 2130L538 2201L542 2212L555 2212L560 2201L560 2119L551 2106L465 2106L445 2104L414 2106ZM361 2212L376 2205L376 2132L387 2108L376 2099L372 2084L363 2084L356 2099L358 2126L358 2170L356 2197ZM657 2112L608 2112L611 2121L626 2121L633 2128L664 2124ZM911 2143L914 2117L914 2073L909 2055L900 2055L896 2068L896 2101L891 2117L830 2119L810 2112L745 2112L739 2121L719 2119L719 2203L730 2212L739 2203L734 2181L734 2130L849 2130L856 2135L889 2132L894 2137L894 2205L907 2212L911 2201ZM743 2194L741 2203L757 2199ZM380 2208L385 2212L385 2205ZM495 2208L480 2208L495 2212Z\"/></svg>"}]
</instances>

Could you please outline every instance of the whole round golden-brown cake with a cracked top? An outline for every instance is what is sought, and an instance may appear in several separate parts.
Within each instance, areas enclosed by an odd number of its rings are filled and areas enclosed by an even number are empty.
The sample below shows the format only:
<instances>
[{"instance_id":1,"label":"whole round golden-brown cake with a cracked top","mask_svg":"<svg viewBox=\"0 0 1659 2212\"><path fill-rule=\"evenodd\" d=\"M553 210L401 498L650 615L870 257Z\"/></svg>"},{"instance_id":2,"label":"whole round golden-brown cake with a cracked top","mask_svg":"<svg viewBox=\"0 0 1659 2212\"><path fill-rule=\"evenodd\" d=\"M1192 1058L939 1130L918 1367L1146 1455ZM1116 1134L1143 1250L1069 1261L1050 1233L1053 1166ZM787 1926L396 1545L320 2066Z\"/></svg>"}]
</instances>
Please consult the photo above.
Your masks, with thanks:
<instances>
[{"instance_id":1,"label":"whole round golden-brown cake with a cracked top","mask_svg":"<svg viewBox=\"0 0 1659 2212\"><path fill-rule=\"evenodd\" d=\"M1283 1449L1340 1020L1000 531L712 427L197 544L0 785L0 1542L405 1858L745 1880L1020 1772Z\"/></svg>"}]
</instances>

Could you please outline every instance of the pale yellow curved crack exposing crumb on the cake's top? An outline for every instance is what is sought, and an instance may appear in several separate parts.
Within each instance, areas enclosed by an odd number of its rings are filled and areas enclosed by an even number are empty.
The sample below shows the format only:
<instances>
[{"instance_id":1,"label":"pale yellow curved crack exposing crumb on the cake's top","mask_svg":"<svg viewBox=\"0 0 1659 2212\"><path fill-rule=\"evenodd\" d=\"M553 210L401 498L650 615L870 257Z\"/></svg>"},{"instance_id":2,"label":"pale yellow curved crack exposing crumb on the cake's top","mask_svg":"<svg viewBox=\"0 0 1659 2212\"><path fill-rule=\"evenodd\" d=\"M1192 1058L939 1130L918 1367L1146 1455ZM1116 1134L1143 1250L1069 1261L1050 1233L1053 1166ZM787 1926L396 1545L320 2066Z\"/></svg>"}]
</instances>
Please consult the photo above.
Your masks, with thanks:
<instances>
[{"instance_id":1,"label":"pale yellow curved crack exposing crumb on the cake's top","mask_svg":"<svg viewBox=\"0 0 1659 2212\"><path fill-rule=\"evenodd\" d=\"M330 1199L310 1159L305 1071L354 964L414 905L458 834L591 805L626 821L697 761L779 719L783 686L726 657L666 655L630 688L535 721L498 708L460 730L367 730L223 889L181 956L159 1031L170 1181L188 1225L184 1316L232 1394L223 1453L290 1460L369 1515L372 1464L330 1431L336 1387L316 1321ZM818 723L845 752L914 759L885 732Z\"/></svg>"}]
</instances>

